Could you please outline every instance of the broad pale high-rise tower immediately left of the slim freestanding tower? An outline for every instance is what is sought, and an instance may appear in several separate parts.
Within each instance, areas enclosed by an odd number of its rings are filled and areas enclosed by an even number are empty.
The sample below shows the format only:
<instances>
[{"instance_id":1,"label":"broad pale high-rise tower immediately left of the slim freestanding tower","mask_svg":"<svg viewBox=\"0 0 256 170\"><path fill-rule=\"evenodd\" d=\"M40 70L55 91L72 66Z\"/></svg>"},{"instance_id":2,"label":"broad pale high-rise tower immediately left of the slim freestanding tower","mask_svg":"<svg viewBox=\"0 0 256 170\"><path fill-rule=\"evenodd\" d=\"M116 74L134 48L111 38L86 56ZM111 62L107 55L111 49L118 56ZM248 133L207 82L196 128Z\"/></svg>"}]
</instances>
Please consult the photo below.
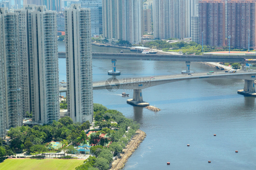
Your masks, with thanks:
<instances>
[{"instance_id":1,"label":"broad pale high-rise tower immediately left of the slim freestanding tower","mask_svg":"<svg viewBox=\"0 0 256 170\"><path fill-rule=\"evenodd\" d=\"M33 121L52 123L60 118L56 11L25 5L19 14L23 114Z\"/></svg>"}]
</instances>

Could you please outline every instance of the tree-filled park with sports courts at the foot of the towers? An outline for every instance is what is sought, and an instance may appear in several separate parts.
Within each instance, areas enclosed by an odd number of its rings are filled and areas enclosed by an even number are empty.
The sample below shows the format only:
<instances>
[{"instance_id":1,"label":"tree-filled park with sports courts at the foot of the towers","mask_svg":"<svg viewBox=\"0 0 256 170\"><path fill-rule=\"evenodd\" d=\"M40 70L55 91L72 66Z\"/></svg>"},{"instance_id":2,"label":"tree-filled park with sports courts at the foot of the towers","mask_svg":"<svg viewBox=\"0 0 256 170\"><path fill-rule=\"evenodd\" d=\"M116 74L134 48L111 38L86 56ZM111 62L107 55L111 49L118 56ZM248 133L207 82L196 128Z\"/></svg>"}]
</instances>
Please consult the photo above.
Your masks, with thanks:
<instances>
[{"instance_id":1,"label":"tree-filled park with sports courts at the foot of the towers","mask_svg":"<svg viewBox=\"0 0 256 170\"><path fill-rule=\"evenodd\" d=\"M109 169L113 156L122 152L131 137L135 135L139 124L126 118L121 112L107 109L101 104L93 104L93 111L94 127L97 129L89 130L89 121L74 123L67 116L52 124L10 128L8 131L10 145L0 146L1 161L8 155L20 152L35 155L34 158L43 158L43 152L64 151L63 158L71 158L68 154L76 152L75 146L88 144L91 146L90 154L94 156L90 156L76 169ZM93 132L88 136L89 131ZM54 150L51 141L60 142L61 147Z\"/></svg>"}]
</instances>

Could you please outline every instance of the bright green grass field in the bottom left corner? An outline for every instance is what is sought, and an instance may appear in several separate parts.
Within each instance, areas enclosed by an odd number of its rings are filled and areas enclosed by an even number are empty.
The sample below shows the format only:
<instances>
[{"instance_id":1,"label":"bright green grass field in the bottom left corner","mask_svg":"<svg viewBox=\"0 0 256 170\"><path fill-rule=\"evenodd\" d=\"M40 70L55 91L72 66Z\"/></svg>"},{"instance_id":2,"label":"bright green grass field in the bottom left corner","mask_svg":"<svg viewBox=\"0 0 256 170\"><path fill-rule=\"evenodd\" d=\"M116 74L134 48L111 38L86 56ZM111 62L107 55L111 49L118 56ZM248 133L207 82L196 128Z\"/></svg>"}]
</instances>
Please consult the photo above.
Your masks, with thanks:
<instances>
[{"instance_id":1,"label":"bright green grass field in the bottom left corner","mask_svg":"<svg viewBox=\"0 0 256 170\"><path fill-rule=\"evenodd\" d=\"M78 159L6 159L0 163L0 170L71 170L83 162Z\"/></svg>"}]
</instances>

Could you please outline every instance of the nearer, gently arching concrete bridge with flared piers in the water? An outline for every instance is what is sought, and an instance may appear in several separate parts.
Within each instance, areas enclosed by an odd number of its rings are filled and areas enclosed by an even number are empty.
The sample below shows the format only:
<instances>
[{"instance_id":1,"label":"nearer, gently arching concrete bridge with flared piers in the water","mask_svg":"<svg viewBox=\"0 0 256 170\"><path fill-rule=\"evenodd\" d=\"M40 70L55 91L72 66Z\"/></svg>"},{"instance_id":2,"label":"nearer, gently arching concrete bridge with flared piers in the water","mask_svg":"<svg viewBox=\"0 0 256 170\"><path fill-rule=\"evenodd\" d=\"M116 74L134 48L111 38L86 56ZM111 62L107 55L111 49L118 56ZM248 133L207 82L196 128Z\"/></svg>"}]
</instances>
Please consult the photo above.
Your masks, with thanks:
<instances>
[{"instance_id":1,"label":"nearer, gently arching concrete bridge with flared piers in the water","mask_svg":"<svg viewBox=\"0 0 256 170\"><path fill-rule=\"evenodd\" d=\"M215 73L195 73L192 76L188 74L177 74L177 75L163 75L151 77L140 77L140 78L127 78L108 81L93 82L93 90L107 89L109 91L115 91L116 89L133 89L132 99L128 99L127 103L136 106L148 106L149 103L143 101L142 89L149 88L155 85L165 84L169 82L176 82L190 79L206 79L206 78L231 78L231 79L243 79L244 87L243 90L238 90L238 93L256 96L254 80L256 80L256 71L239 71L235 73L229 72L215 72ZM60 88L60 92L66 91L66 88Z\"/></svg>"}]
</instances>

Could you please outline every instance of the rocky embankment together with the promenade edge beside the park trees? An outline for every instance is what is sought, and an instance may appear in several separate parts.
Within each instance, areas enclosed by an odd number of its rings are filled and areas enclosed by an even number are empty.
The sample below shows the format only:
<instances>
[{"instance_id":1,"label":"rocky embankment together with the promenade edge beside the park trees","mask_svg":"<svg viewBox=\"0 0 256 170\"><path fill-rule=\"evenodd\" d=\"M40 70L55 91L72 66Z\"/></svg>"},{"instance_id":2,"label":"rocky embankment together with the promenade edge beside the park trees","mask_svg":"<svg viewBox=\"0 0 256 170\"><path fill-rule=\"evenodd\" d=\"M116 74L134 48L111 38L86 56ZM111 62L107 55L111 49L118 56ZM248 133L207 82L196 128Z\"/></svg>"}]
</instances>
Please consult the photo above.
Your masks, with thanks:
<instances>
[{"instance_id":1,"label":"rocky embankment together with the promenade edge beside the park trees","mask_svg":"<svg viewBox=\"0 0 256 170\"><path fill-rule=\"evenodd\" d=\"M136 136L138 135L138 136ZM128 146L128 150L124 153L124 154L120 154L121 156L121 160L119 161L119 163L117 164L117 166L115 166L115 168L113 169L116 169L116 170L121 170L124 168L124 165L125 163L128 161L128 158L130 156L132 156L132 153L140 146L141 142L144 140L144 138L146 137L146 133L139 130L136 131L136 135L134 136L134 141L130 141L130 146ZM124 152L124 150L123 150Z\"/></svg>"}]
</instances>

